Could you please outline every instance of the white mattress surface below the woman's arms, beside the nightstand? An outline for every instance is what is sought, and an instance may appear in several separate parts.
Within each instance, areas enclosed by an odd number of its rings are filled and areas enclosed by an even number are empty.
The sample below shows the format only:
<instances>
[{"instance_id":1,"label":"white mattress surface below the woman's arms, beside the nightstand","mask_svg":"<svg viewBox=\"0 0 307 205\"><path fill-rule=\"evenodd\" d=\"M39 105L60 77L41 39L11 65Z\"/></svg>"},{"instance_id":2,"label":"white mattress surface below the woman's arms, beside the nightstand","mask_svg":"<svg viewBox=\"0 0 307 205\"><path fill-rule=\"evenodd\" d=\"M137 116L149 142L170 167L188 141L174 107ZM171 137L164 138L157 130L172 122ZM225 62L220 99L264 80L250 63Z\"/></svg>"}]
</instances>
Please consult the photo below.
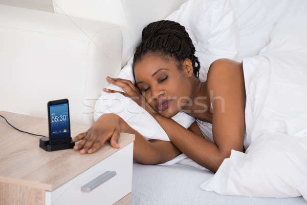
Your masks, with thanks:
<instances>
[{"instance_id":1,"label":"white mattress surface below the woman's arms, beside the nightstand","mask_svg":"<svg viewBox=\"0 0 307 205\"><path fill-rule=\"evenodd\" d=\"M220 195L200 188L213 173L185 165L133 164L131 204L304 204L302 197L263 198Z\"/></svg>"}]
</instances>

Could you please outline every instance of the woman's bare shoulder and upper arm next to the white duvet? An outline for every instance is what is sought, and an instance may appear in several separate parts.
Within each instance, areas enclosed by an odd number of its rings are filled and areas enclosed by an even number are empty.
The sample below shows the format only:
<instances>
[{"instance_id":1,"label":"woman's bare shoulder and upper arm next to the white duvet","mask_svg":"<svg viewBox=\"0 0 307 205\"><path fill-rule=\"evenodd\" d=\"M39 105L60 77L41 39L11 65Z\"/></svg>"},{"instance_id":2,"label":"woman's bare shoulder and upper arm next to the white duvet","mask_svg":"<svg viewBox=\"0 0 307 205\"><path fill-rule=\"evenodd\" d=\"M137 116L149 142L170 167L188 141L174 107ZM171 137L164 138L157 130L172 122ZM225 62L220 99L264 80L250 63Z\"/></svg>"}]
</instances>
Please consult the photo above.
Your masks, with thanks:
<instances>
[{"instance_id":1,"label":"woman's bare shoulder and upper arm next to the white duvet","mask_svg":"<svg viewBox=\"0 0 307 205\"><path fill-rule=\"evenodd\" d=\"M242 150L246 99L242 64L231 59L215 60L207 75L207 92L213 104L214 140L225 150L230 144Z\"/></svg>"}]
</instances>

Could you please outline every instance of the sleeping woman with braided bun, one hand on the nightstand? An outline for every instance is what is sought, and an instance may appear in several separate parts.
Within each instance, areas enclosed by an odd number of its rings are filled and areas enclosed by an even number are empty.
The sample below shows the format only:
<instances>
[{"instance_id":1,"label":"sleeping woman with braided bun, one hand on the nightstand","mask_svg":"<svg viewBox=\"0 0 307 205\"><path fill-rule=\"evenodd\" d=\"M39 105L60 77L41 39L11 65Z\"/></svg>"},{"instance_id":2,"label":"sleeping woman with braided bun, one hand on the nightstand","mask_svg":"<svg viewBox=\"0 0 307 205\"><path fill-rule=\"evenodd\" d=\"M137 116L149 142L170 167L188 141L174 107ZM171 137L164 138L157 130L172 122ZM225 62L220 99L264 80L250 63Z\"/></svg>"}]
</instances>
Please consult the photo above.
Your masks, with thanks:
<instances>
[{"instance_id":1,"label":"sleeping woman with braided bun, one hand on the nightstand","mask_svg":"<svg viewBox=\"0 0 307 205\"><path fill-rule=\"evenodd\" d=\"M170 141L146 140L120 116L101 115L86 132L77 135L74 147L81 154L96 152L109 140L119 148L120 132L135 134L134 159L157 165L186 154L199 165L216 172L231 150L243 151L245 137L245 84L243 65L230 59L215 60L206 81L199 80L200 62L185 27L170 20L150 23L142 31L142 42L133 60L135 84L107 77L150 113ZM184 128L171 119L185 112L196 121ZM212 125L212 138L204 137L201 123Z\"/></svg>"}]
</instances>

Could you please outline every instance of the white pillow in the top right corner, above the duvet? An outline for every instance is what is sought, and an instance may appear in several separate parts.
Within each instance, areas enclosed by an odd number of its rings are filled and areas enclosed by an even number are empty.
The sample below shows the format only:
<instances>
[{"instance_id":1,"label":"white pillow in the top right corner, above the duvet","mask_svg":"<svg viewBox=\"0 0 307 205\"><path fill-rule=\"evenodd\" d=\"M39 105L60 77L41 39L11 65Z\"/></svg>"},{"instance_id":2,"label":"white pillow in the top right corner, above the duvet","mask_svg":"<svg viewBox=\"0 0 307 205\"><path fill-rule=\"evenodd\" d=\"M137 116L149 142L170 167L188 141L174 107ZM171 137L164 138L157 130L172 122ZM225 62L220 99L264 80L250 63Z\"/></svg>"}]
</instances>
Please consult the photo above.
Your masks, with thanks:
<instances>
[{"instance_id":1,"label":"white pillow in the top right corner, above the duvet","mask_svg":"<svg viewBox=\"0 0 307 205\"><path fill-rule=\"evenodd\" d=\"M305 0L231 0L239 30L238 61L258 55L270 43L270 35L278 21L305 13Z\"/></svg>"}]
</instances>

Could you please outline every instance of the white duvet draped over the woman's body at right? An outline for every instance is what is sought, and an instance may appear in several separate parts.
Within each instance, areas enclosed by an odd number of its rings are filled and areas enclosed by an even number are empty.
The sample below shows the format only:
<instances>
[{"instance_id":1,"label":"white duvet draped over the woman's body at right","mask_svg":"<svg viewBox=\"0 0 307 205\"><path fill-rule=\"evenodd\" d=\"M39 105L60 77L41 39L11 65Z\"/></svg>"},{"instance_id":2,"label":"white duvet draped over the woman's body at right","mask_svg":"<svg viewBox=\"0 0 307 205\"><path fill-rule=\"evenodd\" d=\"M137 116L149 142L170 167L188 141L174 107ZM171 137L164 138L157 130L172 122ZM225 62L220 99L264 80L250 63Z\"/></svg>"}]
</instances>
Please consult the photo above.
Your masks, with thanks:
<instances>
[{"instance_id":1,"label":"white duvet draped over the woman's body at right","mask_svg":"<svg viewBox=\"0 0 307 205\"><path fill-rule=\"evenodd\" d=\"M232 150L201 188L307 200L307 23L282 20L270 44L244 58L246 153Z\"/></svg>"}]
</instances>

